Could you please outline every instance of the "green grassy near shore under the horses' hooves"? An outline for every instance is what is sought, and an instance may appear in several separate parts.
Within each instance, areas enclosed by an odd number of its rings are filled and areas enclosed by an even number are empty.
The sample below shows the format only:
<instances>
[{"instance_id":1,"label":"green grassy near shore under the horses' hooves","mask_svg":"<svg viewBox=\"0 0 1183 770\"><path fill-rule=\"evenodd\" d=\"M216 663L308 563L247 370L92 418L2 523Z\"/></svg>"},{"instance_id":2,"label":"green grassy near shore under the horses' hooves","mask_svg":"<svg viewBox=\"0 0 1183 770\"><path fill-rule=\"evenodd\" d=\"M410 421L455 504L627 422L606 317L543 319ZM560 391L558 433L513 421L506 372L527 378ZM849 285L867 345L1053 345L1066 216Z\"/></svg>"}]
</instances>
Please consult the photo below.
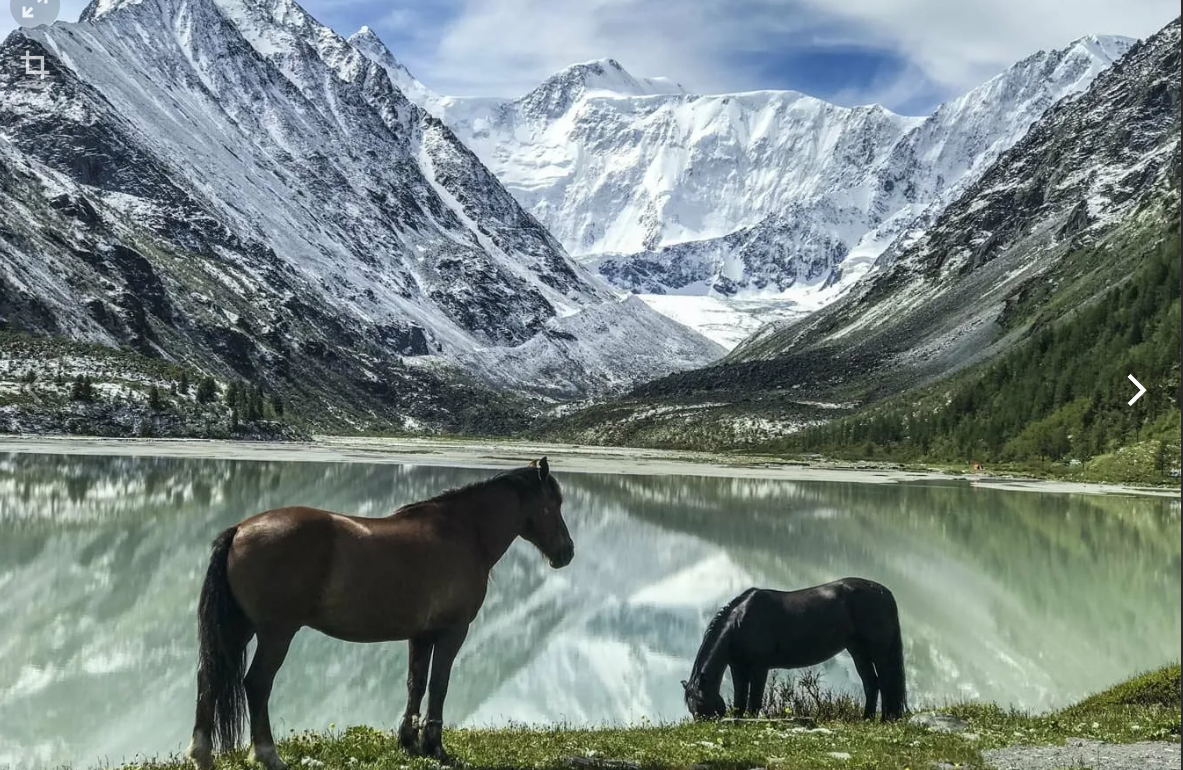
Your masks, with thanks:
<instances>
[{"instance_id":1,"label":"green grassy near shore under the horses' hooves","mask_svg":"<svg viewBox=\"0 0 1183 770\"><path fill-rule=\"evenodd\" d=\"M1067 708L1027 714L991 705L942 708L964 722L961 732L911 723L865 723L849 704L815 708L804 725L790 720L684 722L627 729L509 727L446 730L454 766L490 770L606 768L615 770L930 770L939 763L982 768L982 751L1007 745L1062 744L1069 737L1108 743L1179 740L1179 667L1143 674ZM795 703L799 704L800 699ZM370 727L300 733L279 745L293 770L420 770L434 762L412 758L394 735ZM181 770L177 758L123 770ZM252 765L245 751L224 756L224 770Z\"/></svg>"}]
</instances>

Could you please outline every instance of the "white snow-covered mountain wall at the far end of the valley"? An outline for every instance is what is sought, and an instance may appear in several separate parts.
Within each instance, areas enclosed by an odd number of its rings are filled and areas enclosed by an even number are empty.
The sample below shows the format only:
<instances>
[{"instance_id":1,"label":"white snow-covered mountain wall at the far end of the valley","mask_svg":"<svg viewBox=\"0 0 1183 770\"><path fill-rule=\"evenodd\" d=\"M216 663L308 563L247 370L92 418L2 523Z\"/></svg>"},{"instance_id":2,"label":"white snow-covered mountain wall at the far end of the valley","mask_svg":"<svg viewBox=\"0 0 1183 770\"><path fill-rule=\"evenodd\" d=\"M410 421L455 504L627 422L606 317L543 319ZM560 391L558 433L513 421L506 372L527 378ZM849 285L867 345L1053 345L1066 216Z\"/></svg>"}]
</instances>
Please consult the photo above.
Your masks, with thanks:
<instances>
[{"instance_id":1,"label":"white snow-covered mountain wall at the far end of the valley","mask_svg":"<svg viewBox=\"0 0 1183 770\"><path fill-rule=\"evenodd\" d=\"M367 56L393 60L367 39ZM754 319L739 310L711 329L704 310L827 304L1131 44L1091 35L1041 51L927 117L789 91L692 95L610 59L518 99L438 97L418 80L408 92L571 254L730 345ZM755 321L770 319L756 306Z\"/></svg>"}]
</instances>

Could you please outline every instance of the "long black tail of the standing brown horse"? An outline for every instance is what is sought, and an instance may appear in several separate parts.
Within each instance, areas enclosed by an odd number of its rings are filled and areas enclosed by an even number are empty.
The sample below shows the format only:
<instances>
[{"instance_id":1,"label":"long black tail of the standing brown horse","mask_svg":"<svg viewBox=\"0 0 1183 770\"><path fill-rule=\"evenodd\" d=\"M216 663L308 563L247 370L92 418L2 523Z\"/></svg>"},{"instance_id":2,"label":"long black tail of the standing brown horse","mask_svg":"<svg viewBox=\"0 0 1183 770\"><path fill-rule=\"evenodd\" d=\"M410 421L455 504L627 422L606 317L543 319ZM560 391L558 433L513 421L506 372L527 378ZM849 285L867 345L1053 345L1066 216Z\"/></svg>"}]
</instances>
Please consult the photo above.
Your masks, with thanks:
<instances>
[{"instance_id":1,"label":"long black tail of the standing brown horse","mask_svg":"<svg viewBox=\"0 0 1183 770\"><path fill-rule=\"evenodd\" d=\"M213 744L222 751L238 745L246 718L243 679L250 623L226 576L226 558L237 531L232 526L214 538L198 601L198 699L213 705Z\"/></svg>"}]
</instances>

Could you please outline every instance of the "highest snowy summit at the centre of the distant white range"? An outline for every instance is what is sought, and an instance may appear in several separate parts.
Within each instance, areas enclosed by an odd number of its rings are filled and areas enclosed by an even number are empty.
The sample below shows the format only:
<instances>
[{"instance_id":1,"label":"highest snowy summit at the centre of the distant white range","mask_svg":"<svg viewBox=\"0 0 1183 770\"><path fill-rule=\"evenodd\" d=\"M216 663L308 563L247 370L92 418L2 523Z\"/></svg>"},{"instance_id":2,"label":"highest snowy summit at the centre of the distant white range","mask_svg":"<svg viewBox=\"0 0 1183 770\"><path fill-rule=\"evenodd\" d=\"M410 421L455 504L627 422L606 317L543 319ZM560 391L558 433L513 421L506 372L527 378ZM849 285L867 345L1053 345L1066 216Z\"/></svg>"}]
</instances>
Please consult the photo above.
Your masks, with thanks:
<instances>
[{"instance_id":1,"label":"highest snowy summit at the centre of the distant white range","mask_svg":"<svg viewBox=\"0 0 1183 770\"><path fill-rule=\"evenodd\" d=\"M557 118L578 99L593 93L658 96L685 93L665 78L635 78L615 59L582 62L556 72L519 99L523 110L538 118Z\"/></svg>"}]
</instances>

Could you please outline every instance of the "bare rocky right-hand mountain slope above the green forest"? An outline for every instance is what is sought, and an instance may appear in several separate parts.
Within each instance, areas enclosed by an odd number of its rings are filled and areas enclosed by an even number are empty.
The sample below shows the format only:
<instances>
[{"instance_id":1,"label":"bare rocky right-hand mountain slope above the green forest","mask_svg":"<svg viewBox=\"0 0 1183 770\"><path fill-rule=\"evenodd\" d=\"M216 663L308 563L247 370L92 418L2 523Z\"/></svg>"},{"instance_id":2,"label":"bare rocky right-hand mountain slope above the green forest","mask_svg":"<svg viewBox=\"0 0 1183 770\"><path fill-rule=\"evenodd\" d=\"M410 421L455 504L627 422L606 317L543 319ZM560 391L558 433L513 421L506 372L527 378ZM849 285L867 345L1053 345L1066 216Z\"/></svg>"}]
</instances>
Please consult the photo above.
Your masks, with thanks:
<instances>
[{"instance_id":1,"label":"bare rocky right-hand mountain slope above the green forest","mask_svg":"<svg viewBox=\"0 0 1183 770\"><path fill-rule=\"evenodd\" d=\"M697 426L742 442L739 428L794 431L1010 349L1126 278L1177 227L1178 105L1175 21L1049 110L840 300L558 429L661 442Z\"/></svg>"}]
</instances>

